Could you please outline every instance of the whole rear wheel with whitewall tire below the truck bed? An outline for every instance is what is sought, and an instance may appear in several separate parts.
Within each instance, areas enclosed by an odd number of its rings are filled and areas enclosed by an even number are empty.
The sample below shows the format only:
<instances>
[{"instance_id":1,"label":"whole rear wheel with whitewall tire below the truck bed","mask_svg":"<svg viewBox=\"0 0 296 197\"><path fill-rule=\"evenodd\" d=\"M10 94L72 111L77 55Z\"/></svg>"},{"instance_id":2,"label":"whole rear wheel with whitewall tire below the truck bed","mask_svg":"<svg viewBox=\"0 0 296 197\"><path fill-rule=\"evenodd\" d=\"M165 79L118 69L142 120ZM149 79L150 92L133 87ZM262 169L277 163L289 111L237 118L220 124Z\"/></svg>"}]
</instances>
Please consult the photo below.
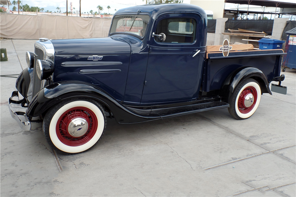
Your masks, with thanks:
<instances>
[{"instance_id":1,"label":"whole rear wheel with whitewall tire below the truck bed","mask_svg":"<svg viewBox=\"0 0 296 197\"><path fill-rule=\"evenodd\" d=\"M246 79L235 88L229 98L228 111L238 120L249 118L255 113L261 99L261 89L254 79Z\"/></svg>"}]
</instances>

